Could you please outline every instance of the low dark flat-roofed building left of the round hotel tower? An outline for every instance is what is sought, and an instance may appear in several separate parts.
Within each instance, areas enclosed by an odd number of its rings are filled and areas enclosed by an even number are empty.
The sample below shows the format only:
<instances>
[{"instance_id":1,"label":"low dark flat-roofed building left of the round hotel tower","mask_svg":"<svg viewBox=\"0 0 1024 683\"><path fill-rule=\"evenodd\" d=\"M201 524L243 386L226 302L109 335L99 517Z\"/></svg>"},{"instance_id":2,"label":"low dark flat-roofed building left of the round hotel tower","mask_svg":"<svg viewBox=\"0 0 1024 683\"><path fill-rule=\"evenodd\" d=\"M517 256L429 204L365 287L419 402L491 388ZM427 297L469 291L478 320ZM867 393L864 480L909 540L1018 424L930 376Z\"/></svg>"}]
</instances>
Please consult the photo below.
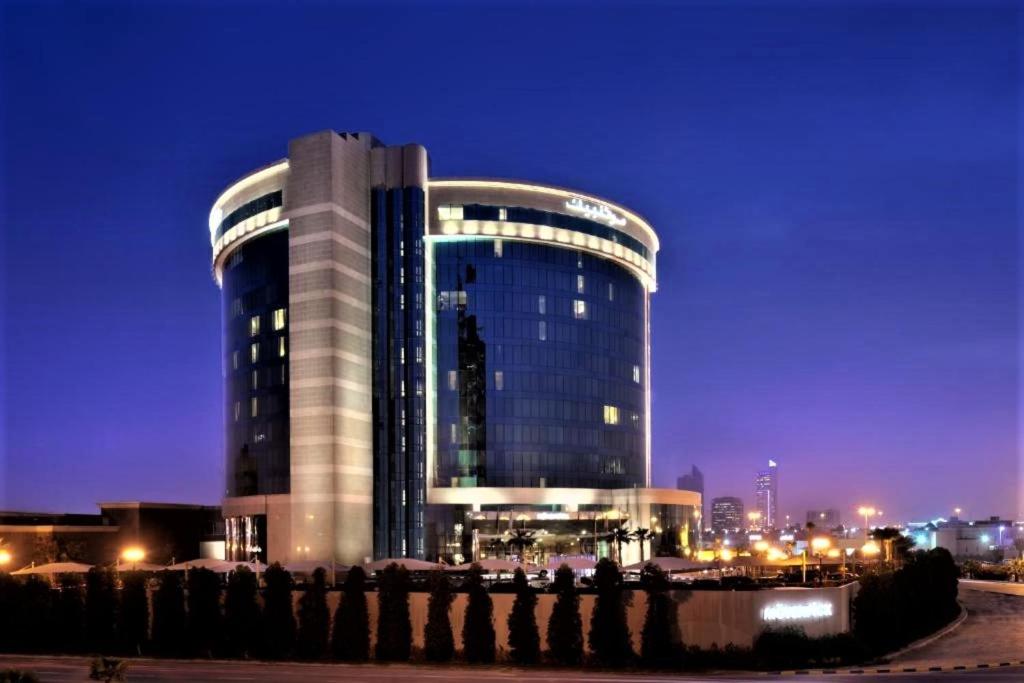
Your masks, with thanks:
<instances>
[{"instance_id":1,"label":"low dark flat-roofed building left of the round hotel tower","mask_svg":"<svg viewBox=\"0 0 1024 683\"><path fill-rule=\"evenodd\" d=\"M72 560L113 564L128 547L145 551L145 561L169 564L204 556L219 544L220 508L171 503L100 503L99 514L0 512L0 539L10 566ZM215 551L214 551L215 552Z\"/></svg>"}]
</instances>

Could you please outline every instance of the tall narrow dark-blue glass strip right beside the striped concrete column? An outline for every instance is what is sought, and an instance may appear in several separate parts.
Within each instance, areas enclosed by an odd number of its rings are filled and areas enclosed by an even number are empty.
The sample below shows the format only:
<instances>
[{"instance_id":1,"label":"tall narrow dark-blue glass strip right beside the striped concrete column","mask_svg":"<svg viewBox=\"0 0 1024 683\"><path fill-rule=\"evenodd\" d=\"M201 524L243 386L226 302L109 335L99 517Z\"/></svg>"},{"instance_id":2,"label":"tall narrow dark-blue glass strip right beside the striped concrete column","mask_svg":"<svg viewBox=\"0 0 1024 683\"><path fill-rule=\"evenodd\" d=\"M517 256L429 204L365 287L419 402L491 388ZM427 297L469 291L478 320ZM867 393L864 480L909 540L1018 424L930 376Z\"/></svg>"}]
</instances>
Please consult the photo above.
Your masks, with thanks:
<instances>
[{"instance_id":1,"label":"tall narrow dark-blue glass strip right beside the striped concrete column","mask_svg":"<svg viewBox=\"0 0 1024 683\"><path fill-rule=\"evenodd\" d=\"M424 193L376 188L373 222L374 553L423 557L426 503Z\"/></svg>"}]
</instances>

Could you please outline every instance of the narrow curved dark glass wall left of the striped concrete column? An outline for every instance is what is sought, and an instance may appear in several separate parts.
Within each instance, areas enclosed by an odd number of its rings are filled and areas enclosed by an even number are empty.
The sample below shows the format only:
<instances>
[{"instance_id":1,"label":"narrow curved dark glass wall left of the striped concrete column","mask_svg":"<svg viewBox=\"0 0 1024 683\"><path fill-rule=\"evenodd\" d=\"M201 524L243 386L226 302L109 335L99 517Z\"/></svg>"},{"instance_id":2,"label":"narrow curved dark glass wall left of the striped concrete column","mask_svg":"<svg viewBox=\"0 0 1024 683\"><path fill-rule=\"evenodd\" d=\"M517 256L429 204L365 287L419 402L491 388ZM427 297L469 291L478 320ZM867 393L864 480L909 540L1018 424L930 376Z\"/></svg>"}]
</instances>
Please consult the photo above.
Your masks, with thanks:
<instances>
[{"instance_id":1,"label":"narrow curved dark glass wall left of the striped concrete column","mask_svg":"<svg viewBox=\"0 0 1024 683\"><path fill-rule=\"evenodd\" d=\"M288 231L231 254L223 275L226 495L289 489Z\"/></svg>"}]
</instances>

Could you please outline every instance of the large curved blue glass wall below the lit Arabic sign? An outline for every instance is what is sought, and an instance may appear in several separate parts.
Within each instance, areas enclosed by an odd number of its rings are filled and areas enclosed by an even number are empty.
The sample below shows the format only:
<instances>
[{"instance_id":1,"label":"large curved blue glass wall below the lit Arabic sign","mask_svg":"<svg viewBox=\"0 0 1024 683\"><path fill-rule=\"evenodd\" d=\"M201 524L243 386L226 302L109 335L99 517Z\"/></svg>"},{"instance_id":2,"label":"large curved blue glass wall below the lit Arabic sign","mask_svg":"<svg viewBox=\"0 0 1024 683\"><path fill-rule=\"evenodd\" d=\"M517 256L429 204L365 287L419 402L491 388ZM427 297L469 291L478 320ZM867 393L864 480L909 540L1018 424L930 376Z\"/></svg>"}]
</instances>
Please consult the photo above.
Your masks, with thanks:
<instances>
[{"instance_id":1,"label":"large curved blue glass wall below the lit Arabic sign","mask_svg":"<svg viewBox=\"0 0 1024 683\"><path fill-rule=\"evenodd\" d=\"M437 485L644 485L637 279L494 239L439 239L434 267Z\"/></svg>"}]
</instances>

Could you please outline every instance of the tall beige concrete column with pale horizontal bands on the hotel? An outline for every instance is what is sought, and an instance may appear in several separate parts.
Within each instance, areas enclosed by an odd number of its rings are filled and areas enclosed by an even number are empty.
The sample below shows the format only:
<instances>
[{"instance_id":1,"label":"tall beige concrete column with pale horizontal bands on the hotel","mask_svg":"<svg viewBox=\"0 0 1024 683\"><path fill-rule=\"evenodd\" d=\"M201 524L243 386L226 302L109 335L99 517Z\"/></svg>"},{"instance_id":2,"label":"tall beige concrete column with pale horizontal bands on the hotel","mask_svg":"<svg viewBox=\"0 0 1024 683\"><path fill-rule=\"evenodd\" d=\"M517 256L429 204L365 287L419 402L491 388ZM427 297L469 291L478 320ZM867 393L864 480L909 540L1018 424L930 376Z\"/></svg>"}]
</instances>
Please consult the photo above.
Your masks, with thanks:
<instances>
[{"instance_id":1,"label":"tall beige concrete column with pale horizontal bands on the hotel","mask_svg":"<svg viewBox=\"0 0 1024 683\"><path fill-rule=\"evenodd\" d=\"M289 145L289 559L373 554L369 135Z\"/></svg>"}]
</instances>

